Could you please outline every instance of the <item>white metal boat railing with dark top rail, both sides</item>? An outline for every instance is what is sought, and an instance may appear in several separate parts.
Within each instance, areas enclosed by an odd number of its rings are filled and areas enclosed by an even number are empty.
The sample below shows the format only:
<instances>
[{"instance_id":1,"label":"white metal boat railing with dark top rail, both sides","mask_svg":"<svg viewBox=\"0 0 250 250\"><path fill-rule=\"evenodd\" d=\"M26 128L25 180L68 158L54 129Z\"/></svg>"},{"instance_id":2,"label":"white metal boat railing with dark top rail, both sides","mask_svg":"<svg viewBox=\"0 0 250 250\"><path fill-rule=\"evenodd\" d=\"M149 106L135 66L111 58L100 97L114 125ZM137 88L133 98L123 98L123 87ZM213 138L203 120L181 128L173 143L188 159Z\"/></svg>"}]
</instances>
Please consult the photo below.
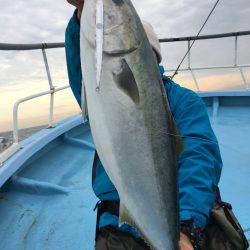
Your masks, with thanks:
<instances>
[{"instance_id":1,"label":"white metal boat railing with dark top rail, both sides","mask_svg":"<svg viewBox=\"0 0 250 250\"><path fill-rule=\"evenodd\" d=\"M179 71L189 71L193 77L194 83L196 85L197 90L199 88L199 82L195 76L195 71L198 70L207 70L207 69L232 69L237 68L241 75L242 81L246 86L246 89L249 88L248 83L246 81L246 77L244 75L243 68L250 67L250 64L239 64L238 63L238 37L240 36L248 36L250 35L250 31L241 31L241 32L233 32L233 33L223 33L223 34L214 34L214 35L204 35L199 37L179 37L179 38L166 38L160 39L161 43L172 43L172 42L187 42L187 66L181 67ZM194 40L207 40L207 39L219 39L219 38L226 38L226 37L233 37L235 40L234 46L234 63L232 65L210 65L206 67L192 67L191 63L191 41ZM69 88L69 85L63 86L60 88L56 88L53 85L49 63L47 60L46 49L55 49L55 48L63 48L65 47L64 43L40 43L40 44L7 44L7 43L0 43L0 50L41 50L43 55L43 61L47 73L48 83L49 83L49 90L45 92L40 92L34 95L27 96L25 98L21 98L17 100L13 107L13 144L3 151L0 154L0 166L6 161L9 157L11 157L14 153L16 153L19 149L21 149L21 144L19 141L19 134L18 134L18 108L19 105L23 102L38 98L44 95L50 95L50 112L49 112L49 119L48 119L48 128L53 128L55 124L53 123L53 111L54 111L54 94L58 91L62 91L64 89ZM168 69L166 72L174 72L175 69Z\"/></svg>"}]
</instances>

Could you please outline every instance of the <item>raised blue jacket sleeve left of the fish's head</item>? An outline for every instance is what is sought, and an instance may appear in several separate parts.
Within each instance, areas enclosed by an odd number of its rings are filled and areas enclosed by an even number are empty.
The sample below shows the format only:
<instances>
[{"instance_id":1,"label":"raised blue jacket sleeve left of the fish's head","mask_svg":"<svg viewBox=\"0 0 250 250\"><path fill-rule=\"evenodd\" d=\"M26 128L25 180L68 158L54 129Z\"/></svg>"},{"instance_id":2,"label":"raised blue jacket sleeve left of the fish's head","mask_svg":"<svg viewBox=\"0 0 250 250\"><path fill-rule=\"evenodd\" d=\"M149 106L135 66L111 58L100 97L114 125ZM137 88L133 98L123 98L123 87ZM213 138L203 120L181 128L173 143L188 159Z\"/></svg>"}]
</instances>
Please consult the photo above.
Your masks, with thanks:
<instances>
[{"instance_id":1,"label":"raised blue jacket sleeve left of the fish's head","mask_svg":"<svg viewBox=\"0 0 250 250\"><path fill-rule=\"evenodd\" d=\"M76 11L66 29L65 50L69 84L81 107L82 70L80 60L80 24L76 18Z\"/></svg>"}]
</instances>

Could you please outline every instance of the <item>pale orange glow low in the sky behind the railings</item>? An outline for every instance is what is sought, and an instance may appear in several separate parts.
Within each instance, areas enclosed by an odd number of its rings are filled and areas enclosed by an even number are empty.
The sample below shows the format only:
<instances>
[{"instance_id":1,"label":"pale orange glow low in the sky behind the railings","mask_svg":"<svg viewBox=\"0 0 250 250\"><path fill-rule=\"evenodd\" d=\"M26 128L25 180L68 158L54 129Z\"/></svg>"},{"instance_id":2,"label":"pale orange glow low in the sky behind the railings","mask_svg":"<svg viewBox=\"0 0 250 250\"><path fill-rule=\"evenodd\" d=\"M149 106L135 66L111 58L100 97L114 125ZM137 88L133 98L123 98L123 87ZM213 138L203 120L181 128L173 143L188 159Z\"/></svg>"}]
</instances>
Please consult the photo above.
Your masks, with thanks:
<instances>
[{"instance_id":1,"label":"pale orange glow low in the sky behind the railings","mask_svg":"<svg viewBox=\"0 0 250 250\"><path fill-rule=\"evenodd\" d=\"M249 74L249 71L247 71L247 73ZM201 91L243 89L246 87L241 82L242 79L237 71L223 75L218 75L217 73L211 75L206 74L205 76L196 74L196 76ZM176 76L175 81L184 87L197 90L190 73L180 73ZM37 80L36 84L29 86L24 83L19 83L0 88L0 131L12 130L13 106L18 99L46 90L48 90L48 83L46 80ZM22 103L18 113L19 128L47 124L49 100L49 95L47 95ZM80 113L80 108L70 88L55 94L55 121L77 113Z\"/></svg>"}]
</instances>

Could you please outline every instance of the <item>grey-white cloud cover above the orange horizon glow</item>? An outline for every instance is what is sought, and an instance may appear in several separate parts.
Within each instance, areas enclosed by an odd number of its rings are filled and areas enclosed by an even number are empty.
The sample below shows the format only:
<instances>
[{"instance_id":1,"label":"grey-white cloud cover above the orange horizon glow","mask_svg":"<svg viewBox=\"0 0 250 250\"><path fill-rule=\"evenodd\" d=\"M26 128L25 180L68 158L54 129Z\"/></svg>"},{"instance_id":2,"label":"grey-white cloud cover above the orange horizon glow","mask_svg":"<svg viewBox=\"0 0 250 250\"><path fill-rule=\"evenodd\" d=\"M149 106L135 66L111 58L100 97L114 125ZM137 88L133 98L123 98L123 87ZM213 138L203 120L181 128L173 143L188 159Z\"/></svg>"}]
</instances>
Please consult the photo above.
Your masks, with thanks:
<instances>
[{"instance_id":1,"label":"grey-white cloud cover above the orange horizon glow","mask_svg":"<svg viewBox=\"0 0 250 250\"><path fill-rule=\"evenodd\" d=\"M215 0L132 0L132 2L141 18L153 25L160 38L165 38L195 35ZM66 0L16 0L11 3L1 1L0 42L62 42L73 11L74 7ZM248 30L249 23L248 0L221 0L203 34ZM239 38L240 63L249 63L249 40L249 38ZM192 50L192 63L196 66L232 64L233 46L233 39L197 41ZM164 65L167 68L175 68L186 51L186 43L163 44L162 51ZM56 85L67 84L64 49L47 50L47 54L52 79ZM212 73L211 71L204 73L203 79L212 79ZM46 77L41 51L0 51L1 92L8 86L22 90L29 84L32 84L34 91L44 90L48 88ZM238 88L238 85L236 87ZM5 103L2 102L0 99L0 105L4 106Z\"/></svg>"}]
</instances>

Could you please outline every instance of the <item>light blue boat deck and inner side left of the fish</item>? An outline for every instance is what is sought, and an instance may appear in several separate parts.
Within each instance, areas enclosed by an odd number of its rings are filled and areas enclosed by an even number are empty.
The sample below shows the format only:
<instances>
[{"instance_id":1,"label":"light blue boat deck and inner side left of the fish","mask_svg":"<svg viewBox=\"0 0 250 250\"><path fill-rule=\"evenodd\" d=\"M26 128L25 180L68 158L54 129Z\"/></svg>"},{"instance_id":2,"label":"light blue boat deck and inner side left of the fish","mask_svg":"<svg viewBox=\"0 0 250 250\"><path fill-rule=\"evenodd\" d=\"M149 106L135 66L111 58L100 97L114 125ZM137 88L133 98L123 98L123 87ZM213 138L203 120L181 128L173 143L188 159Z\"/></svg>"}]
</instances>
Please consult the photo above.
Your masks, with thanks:
<instances>
[{"instance_id":1,"label":"light blue boat deck and inner side left of the fish","mask_svg":"<svg viewBox=\"0 0 250 250\"><path fill-rule=\"evenodd\" d=\"M3 187L0 249L93 249L94 150L85 141L82 126L61 135Z\"/></svg>"}]
</instances>

